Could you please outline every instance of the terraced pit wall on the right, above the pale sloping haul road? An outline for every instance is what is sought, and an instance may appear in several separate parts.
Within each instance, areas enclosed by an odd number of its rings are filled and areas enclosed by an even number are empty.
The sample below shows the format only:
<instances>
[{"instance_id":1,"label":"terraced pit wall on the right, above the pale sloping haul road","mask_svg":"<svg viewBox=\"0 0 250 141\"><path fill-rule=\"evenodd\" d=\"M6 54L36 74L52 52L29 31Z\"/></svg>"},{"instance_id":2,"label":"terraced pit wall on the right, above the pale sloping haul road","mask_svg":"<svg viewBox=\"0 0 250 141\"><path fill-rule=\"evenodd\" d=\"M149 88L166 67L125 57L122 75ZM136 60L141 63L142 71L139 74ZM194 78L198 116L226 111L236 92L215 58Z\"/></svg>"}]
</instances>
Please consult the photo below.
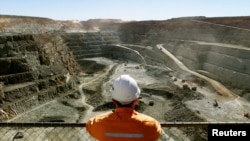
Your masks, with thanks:
<instances>
[{"instance_id":1,"label":"terraced pit wall on the right, above the pale sloping haul road","mask_svg":"<svg viewBox=\"0 0 250 141\"><path fill-rule=\"evenodd\" d=\"M189 69L228 86L240 89L250 87L249 29L203 22L200 19L173 19L125 23L120 26L118 34L124 44L152 47L164 44ZM157 51L155 53L159 54ZM164 57L161 55L154 57L160 64L166 63L173 70L179 71L169 58L162 59Z\"/></svg>"}]
</instances>

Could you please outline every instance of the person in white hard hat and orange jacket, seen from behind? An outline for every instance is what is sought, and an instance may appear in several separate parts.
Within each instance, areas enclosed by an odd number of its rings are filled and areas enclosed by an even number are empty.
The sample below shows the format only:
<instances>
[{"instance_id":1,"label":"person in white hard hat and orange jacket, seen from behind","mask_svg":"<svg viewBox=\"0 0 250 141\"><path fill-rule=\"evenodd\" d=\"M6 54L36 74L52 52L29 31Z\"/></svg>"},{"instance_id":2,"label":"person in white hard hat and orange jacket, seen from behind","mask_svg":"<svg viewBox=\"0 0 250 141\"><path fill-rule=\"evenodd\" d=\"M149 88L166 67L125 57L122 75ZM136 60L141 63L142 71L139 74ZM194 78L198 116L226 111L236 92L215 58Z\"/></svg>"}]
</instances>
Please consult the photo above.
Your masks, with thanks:
<instances>
[{"instance_id":1,"label":"person in white hard hat and orange jacket, seen from behind","mask_svg":"<svg viewBox=\"0 0 250 141\"><path fill-rule=\"evenodd\" d=\"M157 141L162 133L160 123L134 109L140 96L137 82L123 74L115 79L110 93L115 110L89 119L89 134L99 141Z\"/></svg>"}]
</instances>

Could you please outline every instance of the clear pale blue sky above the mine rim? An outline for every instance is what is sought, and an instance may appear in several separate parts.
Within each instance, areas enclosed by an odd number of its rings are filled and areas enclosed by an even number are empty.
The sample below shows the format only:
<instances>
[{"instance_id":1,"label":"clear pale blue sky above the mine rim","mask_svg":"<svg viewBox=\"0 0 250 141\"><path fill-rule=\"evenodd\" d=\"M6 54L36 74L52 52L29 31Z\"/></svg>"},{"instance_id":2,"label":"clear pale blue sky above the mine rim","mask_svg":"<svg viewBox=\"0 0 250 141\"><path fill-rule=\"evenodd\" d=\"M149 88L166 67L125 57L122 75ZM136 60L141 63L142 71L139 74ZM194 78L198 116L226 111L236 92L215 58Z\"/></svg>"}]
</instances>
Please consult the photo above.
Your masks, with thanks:
<instances>
[{"instance_id":1,"label":"clear pale blue sky above the mine rim","mask_svg":"<svg viewBox=\"0 0 250 141\"><path fill-rule=\"evenodd\" d=\"M54 20L250 16L250 0L0 0L0 14Z\"/></svg>"}]
</instances>

